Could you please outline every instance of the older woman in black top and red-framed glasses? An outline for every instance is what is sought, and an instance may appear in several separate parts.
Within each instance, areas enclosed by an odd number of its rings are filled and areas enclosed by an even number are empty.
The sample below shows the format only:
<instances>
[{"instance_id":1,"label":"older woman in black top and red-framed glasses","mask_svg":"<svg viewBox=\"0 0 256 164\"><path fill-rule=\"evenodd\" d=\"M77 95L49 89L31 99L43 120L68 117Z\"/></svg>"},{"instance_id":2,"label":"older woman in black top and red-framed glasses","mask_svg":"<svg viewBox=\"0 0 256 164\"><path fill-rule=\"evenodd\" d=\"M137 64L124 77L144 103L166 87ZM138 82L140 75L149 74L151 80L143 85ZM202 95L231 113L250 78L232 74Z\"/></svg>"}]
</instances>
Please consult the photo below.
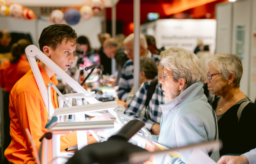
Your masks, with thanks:
<instances>
[{"instance_id":1,"label":"older woman in black top and red-framed glasses","mask_svg":"<svg viewBox=\"0 0 256 164\"><path fill-rule=\"evenodd\" d=\"M241 155L256 147L256 106L240 91L243 66L238 55L219 54L206 62L208 90L219 96L212 103L217 114L220 155ZM238 110L239 109L239 110Z\"/></svg>"}]
</instances>

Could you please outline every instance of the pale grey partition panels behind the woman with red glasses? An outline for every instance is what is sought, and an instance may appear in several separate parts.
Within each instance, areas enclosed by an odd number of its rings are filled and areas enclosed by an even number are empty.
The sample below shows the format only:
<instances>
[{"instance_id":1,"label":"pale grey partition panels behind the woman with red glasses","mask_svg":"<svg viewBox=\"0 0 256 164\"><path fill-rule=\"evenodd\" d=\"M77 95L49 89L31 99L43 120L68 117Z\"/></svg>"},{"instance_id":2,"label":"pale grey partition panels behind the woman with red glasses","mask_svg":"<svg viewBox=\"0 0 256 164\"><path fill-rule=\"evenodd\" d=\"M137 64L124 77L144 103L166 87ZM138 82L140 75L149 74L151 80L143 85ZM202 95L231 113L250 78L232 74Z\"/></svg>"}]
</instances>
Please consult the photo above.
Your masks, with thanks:
<instances>
[{"instance_id":1,"label":"pale grey partition panels behind the woman with red glasses","mask_svg":"<svg viewBox=\"0 0 256 164\"><path fill-rule=\"evenodd\" d=\"M218 53L240 56L243 76L240 90L250 100L256 98L256 0L238 0L216 6ZM229 17L230 16L230 17ZM231 27L229 27L231 23ZM229 35L231 33L231 36ZM229 52L229 41L231 51ZM221 47L222 45L222 47Z\"/></svg>"}]
</instances>

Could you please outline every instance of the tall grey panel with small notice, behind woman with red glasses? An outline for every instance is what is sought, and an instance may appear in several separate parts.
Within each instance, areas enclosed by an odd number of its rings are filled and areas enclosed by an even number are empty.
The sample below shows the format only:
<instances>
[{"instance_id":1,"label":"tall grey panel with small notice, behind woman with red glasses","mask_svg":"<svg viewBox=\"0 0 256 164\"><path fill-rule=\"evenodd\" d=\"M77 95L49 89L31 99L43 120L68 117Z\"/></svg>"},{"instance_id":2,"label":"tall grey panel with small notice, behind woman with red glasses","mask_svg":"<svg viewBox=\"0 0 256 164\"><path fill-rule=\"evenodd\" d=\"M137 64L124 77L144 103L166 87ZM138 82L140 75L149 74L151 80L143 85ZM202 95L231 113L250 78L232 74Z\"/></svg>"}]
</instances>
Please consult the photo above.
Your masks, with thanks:
<instances>
[{"instance_id":1,"label":"tall grey panel with small notice, behind woman with red glasses","mask_svg":"<svg viewBox=\"0 0 256 164\"><path fill-rule=\"evenodd\" d=\"M251 0L239 0L233 3L232 54L240 56L243 64L243 76L240 90L249 96L250 67L250 19Z\"/></svg>"}]
</instances>

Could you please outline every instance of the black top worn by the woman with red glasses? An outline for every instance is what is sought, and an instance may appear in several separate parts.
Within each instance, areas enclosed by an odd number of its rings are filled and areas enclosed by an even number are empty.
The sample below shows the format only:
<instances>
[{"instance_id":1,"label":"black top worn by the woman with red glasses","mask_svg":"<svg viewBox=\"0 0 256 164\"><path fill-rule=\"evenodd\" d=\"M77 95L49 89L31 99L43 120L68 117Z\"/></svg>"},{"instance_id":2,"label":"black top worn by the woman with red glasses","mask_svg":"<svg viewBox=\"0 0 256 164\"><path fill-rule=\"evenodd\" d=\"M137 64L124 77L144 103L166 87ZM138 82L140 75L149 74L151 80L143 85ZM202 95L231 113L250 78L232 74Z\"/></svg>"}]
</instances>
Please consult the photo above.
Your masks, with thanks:
<instances>
[{"instance_id":1,"label":"black top worn by the woman with red glasses","mask_svg":"<svg viewBox=\"0 0 256 164\"><path fill-rule=\"evenodd\" d=\"M212 102L216 109L219 98ZM238 122L238 108L242 102L233 105L218 121L219 139L223 147L220 155L244 154L256 147L256 104L248 103Z\"/></svg>"}]
</instances>

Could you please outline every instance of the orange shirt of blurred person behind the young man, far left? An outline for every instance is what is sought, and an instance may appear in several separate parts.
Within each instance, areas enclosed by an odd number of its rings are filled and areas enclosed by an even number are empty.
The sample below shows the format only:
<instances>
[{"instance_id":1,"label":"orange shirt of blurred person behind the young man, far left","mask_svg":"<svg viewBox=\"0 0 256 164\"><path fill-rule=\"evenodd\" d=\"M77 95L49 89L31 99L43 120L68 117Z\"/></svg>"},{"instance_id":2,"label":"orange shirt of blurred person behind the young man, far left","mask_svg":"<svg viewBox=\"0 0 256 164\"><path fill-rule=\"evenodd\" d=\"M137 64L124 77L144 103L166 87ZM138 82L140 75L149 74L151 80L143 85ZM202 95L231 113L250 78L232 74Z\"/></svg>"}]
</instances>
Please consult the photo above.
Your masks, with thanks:
<instances>
[{"instance_id":1,"label":"orange shirt of blurred person behind the young man, far left","mask_svg":"<svg viewBox=\"0 0 256 164\"><path fill-rule=\"evenodd\" d=\"M17 63L11 64L9 60L4 61L0 67L0 86L4 91L10 92L18 80L31 69L26 57L20 56Z\"/></svg>"}]
</instances>

